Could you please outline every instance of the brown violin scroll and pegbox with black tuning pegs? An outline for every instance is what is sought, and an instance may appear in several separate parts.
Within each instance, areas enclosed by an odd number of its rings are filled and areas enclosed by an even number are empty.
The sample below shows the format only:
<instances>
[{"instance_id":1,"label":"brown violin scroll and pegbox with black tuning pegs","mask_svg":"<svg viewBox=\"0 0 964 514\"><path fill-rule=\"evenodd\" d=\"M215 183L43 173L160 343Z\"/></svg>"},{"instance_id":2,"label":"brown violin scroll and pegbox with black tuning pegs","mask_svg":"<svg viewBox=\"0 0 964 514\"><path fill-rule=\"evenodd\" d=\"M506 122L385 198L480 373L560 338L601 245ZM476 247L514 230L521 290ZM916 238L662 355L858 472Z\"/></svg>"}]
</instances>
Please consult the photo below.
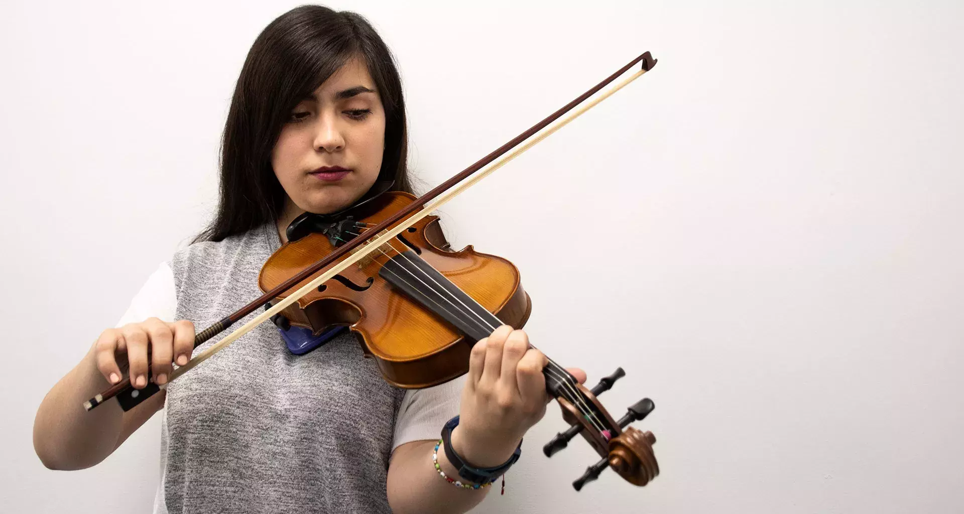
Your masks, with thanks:
<instances>
[{"instance_id":1,"label":"brown violin scroll and pegbox with black tuning pegs","mask_svg":"<svg viewBox=\"0 0 964 514\"><path fill-rule=\"evenodd\" d=\"M591 391L579 386L582 396L598 413L595 417L581 415L577 405L573 405L566 398L557 398L562 408L563 419L572 426L565 432L556 434L546 446L543 446L546 456L551 457L568 446L569 441L576 437L576 434L582 434L590 446L593 446L603 457L573 482L576 491L581 490L587 482L599 477L606 468L612 468L629 483L638 486L646 485L659 474L659 465L656 463L656 454L653 452L656 436L652 432L643 432L629 426L633 421L645 419L653 412L656 408L653 400L650 398L639 400L629 407L626 416L619 421L614 421L596 397L608 391L624 376L626 372L620 367L613 374L604 377Z\"/></svg>"}]
</instances>

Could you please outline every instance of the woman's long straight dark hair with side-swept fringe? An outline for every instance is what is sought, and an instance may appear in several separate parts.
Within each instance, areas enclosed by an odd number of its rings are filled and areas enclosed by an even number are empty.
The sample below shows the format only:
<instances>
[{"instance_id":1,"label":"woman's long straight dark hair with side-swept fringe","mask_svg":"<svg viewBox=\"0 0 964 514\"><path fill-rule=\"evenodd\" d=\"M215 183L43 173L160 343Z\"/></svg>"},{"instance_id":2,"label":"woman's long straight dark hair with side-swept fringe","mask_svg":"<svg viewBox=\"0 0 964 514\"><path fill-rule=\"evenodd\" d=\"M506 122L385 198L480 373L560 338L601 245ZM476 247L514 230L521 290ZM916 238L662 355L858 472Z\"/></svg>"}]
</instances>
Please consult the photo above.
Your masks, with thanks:
<instances>
[{"instance_id":1,"label":"woman's long straight dark hair with side-swept fringe","mask_svg":"<svg viewBox=\"0 0 964 514\"><path fill-rule=\"evenodd\" d=\"M412 192L406 157L405 100L385 41L361 15L301 6L258 35L238 77L221 142L221 194L217 214L195 241L276 221L286 194L271 168L271 151L291 109L350 58L361 56L385 107L385 154L379 180Z\"/></svg>"}]
</instances>

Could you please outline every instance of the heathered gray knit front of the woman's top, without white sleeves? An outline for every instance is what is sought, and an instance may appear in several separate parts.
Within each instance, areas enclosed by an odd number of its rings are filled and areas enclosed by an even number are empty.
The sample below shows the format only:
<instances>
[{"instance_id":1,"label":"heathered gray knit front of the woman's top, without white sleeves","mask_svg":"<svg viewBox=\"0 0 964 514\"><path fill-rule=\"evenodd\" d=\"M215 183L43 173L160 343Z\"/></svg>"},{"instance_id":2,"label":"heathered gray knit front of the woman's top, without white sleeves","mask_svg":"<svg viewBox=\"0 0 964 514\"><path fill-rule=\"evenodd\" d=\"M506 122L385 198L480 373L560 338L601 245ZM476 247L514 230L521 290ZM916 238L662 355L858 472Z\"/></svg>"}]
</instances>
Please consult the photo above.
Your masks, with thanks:
<instances>
[{"instance_id":1,"label":"heathered gray knit front of the woman's top, without white sleeves","mask_svg":"<svg viewBox=\"0 0 964 514\"><path fill-rule=\"evenodd\" d=\"M176 318L200 331L256 298L258 271L280 246L269 225L177 252ZM275 326L262 323L168 388L168 511L388 513L388 457L403 396L347 331L295 356Z\"/></svg>"}]
</instances>

